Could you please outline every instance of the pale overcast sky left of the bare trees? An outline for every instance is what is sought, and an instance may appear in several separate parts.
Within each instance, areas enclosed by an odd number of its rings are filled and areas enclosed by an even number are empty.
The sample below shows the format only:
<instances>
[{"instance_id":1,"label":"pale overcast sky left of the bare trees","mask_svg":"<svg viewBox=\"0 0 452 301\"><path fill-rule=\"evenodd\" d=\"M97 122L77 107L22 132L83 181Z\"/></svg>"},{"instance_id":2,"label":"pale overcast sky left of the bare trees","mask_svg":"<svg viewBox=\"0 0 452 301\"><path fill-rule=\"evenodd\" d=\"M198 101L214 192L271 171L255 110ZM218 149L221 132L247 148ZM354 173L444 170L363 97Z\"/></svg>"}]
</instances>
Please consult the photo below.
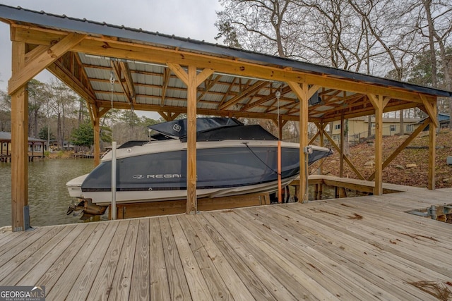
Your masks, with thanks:
<instances>
[{"instance_id":1,"label":"pale overcast sky left of the bare trees","mask_svg":"<svg viewBox=\"0 0 452 301\"><path fill-rule=\"evenodd\" d=\"M0 4L220 43L214 39L215 11L222 8L218 0L0 0ZM51 77L43 71L36 79L48 82ZM7 90L9 78L9 25L0 22L0 90Z\"/></svg>"}]
</instances>

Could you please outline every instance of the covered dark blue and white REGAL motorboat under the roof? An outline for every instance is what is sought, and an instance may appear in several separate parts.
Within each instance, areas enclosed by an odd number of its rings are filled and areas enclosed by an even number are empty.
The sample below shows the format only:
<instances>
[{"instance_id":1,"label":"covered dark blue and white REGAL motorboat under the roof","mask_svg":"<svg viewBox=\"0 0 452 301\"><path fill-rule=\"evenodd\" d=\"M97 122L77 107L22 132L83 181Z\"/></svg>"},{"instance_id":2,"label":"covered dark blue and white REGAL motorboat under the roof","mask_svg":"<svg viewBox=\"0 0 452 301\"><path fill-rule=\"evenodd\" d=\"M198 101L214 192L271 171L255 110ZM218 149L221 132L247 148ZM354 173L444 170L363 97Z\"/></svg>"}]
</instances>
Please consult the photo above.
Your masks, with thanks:
<instances>
[{"instance_id":1,"label":"covered dark blue and white REGAL motorboat under the roof","mask_svg":"<svg viewBox=\"0 0 452 301\"><path fill-rule=\"evenodd\" d=\"M126 142L117 148L116 202L186 199L186 119L150 125L148 141ZM281 185L299 175L299 144L280 142ZM310 146L308 164L332 154ZM278 189L278 138L261 125L244 125L235 118L196 119L196 195L227 197ZM66 183L79 199L72 211L111 203L112 152L91 173ZM98 211L98 210L97 210ZM71 212L71 207L68 214Z\"/></svg>"}]
</instances>

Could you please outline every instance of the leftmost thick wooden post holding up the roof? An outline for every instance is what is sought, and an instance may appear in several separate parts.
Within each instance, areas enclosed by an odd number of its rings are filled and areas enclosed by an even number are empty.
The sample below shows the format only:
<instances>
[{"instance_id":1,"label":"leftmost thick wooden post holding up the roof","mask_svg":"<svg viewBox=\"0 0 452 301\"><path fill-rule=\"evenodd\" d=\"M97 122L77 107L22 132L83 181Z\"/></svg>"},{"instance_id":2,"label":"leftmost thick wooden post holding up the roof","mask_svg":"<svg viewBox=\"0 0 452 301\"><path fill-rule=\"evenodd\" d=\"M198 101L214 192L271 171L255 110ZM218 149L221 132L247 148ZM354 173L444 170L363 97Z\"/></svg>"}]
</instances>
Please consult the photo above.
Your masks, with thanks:
<instances>
[{"instance_id":1,"label":"leftmost thick wooden post holding up the roof","mask_svg":"<svg viewBox=\"0 0 452 301\"><path fill-rule=\"evenodd\" d=\"M25 43L13 42L12 54L12 76L14 76L25 66ZM25 231L30 225L28 214L25 216L26 208L28 208L27 82L11 94L11 226L13 231Z\"/></svg>"}]
</instances>

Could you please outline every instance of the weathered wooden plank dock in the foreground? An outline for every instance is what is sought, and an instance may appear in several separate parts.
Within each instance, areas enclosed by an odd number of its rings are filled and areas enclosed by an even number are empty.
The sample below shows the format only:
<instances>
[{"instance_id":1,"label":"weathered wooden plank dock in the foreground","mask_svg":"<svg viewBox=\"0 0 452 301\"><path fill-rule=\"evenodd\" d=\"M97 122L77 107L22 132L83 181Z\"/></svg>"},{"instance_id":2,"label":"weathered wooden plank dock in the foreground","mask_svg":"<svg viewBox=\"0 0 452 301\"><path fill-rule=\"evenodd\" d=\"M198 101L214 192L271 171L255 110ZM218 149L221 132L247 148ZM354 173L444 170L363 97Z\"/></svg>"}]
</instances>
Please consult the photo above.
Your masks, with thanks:
<instances>
[{"instance_id":1,"label":"weathered wooden plank dock in the foreground","mask_svg":"<svg viewBox=\"0 0 452 301\"><path fill-rule=\"evenodd\" d=\"M4 230L0 285L45 285L46 300L451 300L434 295L452 290L452 224L405 213L451 194Z\"/></svg>"}]
</instances>

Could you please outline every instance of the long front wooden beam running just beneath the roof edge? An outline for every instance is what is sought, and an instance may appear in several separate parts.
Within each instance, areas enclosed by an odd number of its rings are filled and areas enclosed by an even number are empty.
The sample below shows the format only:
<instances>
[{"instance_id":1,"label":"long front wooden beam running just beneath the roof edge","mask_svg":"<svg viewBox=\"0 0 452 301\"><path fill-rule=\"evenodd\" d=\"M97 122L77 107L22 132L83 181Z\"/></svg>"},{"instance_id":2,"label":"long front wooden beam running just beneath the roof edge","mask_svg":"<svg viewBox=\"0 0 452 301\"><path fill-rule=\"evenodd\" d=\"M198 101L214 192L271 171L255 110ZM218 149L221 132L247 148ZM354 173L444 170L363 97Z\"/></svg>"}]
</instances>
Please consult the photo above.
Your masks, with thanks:
<instances>
[{"instance_id":1,"label":"long front wooden beam running just beneath the roof edge","mask_svg":"<svg viewBox=\"0 0 452 301\"><path fill-rule=\"evenodd\" d=\"M52 44L61 39L61 31L48 30L24 25L11 25L14 35L11 39L29 44ZM131 44L130 42L107 39L105 37L86 37L83 42L73 47L74 51L99 56L111 56L119 59L131 59L150 63L179 63L189 64L198 68L211 68L221 73L235 74L254 78L276 81L310 82L321 87L335 90L349 91L360 94L383 94L393 99L403 99L408 102L422 103L419 94L397 87L383 87L366 82L350 79L334 78L324 74L303 73L290 68L280 69L273 66L259 66L257 64L240 61L230 57L213 57L181 51L181 49L163 49L145 44Z\"/></svg>"}]
</instances>

